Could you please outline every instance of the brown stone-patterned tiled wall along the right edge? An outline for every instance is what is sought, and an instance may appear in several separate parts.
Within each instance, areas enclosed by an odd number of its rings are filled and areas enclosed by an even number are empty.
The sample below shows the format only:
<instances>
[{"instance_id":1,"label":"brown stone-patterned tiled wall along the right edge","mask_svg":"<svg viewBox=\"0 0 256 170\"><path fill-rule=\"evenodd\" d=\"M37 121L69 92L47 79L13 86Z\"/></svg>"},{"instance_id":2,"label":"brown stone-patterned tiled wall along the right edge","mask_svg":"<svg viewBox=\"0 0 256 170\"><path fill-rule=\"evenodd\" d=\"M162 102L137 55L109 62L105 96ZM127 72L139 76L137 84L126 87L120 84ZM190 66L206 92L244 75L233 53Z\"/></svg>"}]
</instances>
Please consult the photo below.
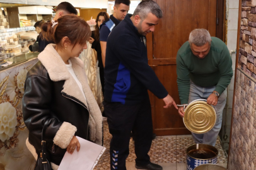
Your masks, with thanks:
<instances>
[{"instance_id":1,"label":"brown stone-patterned tiled wall along the right edge","mask_svg":"<svg viewBox=\"0 0 256 170\"><path fill-rule=\"evenodd\" d=\"M256 0L241 1L240 49L228 169L256 169Z\"/></svg>"}]
</instances>

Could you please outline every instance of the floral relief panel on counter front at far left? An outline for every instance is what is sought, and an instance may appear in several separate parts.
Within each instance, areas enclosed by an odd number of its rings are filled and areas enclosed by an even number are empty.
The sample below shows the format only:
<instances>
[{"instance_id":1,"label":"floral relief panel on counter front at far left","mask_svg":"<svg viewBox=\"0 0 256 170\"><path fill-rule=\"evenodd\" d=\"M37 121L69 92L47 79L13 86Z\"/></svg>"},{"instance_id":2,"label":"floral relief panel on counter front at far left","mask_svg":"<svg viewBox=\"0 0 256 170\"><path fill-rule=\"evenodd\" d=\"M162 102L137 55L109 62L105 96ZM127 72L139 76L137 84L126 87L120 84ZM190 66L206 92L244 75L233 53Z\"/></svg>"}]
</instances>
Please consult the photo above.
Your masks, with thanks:
<instances>
[{"instance_id":1,"label":"floral relief panel on counter front at far left","mask_svg":"<svg viewBox=\"0 0 256 170\"><path fill-rule=\"evenodd\" d=\"M21 100L26 73L37 59L0 72L0 169L33 169L35 159L26 148L28 130Z\"/></svg>"}]
</instances>

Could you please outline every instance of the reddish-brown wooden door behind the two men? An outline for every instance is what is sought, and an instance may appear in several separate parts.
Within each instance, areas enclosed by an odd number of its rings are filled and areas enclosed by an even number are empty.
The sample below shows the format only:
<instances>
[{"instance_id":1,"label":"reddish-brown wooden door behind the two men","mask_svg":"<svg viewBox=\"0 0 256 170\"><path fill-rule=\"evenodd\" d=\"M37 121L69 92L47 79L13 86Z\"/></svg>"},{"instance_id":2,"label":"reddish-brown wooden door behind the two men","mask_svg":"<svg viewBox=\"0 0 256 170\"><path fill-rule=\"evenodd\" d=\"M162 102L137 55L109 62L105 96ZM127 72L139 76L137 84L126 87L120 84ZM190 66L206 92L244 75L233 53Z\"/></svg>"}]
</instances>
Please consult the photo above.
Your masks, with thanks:
<instances>
[{"instance_id":1,"label":"reddish-brown wooden door behind the two men","mask_svg":"<svg viewBox=\"0 0 256 170\"><path fill-rule=\"evenodd\" d=\"M163 18L155 31L147 36L149 65L177 104L178 97L176 55L189 40L195 28L209 30L216 37L218 0L154 0L163 10ZM163 100L149 92L153 128L156 135L189 134L182 118L174 108L163 108Z\"/></svg>"}]
</instances>

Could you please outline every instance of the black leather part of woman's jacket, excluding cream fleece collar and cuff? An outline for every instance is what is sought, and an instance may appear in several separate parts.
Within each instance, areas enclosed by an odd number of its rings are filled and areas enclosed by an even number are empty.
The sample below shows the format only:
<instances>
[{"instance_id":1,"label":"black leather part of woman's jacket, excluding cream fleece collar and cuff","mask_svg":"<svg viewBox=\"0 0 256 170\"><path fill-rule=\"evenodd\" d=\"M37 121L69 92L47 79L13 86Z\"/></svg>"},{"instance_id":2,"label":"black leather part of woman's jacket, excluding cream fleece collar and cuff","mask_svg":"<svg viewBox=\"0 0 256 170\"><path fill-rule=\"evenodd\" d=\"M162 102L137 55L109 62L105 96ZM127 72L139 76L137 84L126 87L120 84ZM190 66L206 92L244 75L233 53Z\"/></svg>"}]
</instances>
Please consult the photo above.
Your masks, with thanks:
<instances>
[{"instance_id":1,"label":"black leather part of woman's jacket, excluding cream fleece collar and cuff","mask_svg":"<svg viewBox=\"0 0 256 170\"><path fill-rule=\"evenodd\" d=\"M37 154L41 148L42 127L48 121L44 133L50 161L59 165L66 149L55 145L53 139L63 122L77 128L75 135L88 139L89 113L78 99L61 92L64 81L54 82L40 61L28 72L23 97L23 117L29 130L28 140Z\"/></svg>"}]
</instances>

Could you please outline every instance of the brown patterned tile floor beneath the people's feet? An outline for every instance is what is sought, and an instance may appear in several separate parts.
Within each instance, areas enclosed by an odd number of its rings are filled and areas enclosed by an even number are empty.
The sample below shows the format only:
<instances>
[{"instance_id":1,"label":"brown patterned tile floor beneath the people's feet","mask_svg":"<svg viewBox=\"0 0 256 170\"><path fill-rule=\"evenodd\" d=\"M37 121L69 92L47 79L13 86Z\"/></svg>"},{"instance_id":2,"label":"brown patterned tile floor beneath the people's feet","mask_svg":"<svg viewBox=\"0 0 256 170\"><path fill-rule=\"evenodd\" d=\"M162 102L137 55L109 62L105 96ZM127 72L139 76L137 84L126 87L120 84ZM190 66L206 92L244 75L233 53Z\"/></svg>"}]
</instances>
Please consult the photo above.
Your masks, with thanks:
<instances>
[{"instance_id":1,"label":"brown patterned tile floor beneath the people's feet","mask_svg":"<svg viewBox=\"0 0 256 170\"><path fill-rule=\"evenodd\" d=\"M109 156L109 144L112 135L108 132L107 122L103 122L104 126L104 146L106 150L98 164L95 166L96 169L109 170L110 169L110 156ZM152 141L151 149L149 150L149 156L151 162L160 164L163 169L168 170L185 170L186 169L186 153L185 150L189 145L194 144L191 135L173 135L173 136L158 136ZM219 150L218 162L220 166L226 167L228 159L224 150L221 147L219 139L215 146ZM135 170L135 159L134 153L134 142L130 140L130 154L126 160L127 170Z\"/></svg>"}]
</instances>

